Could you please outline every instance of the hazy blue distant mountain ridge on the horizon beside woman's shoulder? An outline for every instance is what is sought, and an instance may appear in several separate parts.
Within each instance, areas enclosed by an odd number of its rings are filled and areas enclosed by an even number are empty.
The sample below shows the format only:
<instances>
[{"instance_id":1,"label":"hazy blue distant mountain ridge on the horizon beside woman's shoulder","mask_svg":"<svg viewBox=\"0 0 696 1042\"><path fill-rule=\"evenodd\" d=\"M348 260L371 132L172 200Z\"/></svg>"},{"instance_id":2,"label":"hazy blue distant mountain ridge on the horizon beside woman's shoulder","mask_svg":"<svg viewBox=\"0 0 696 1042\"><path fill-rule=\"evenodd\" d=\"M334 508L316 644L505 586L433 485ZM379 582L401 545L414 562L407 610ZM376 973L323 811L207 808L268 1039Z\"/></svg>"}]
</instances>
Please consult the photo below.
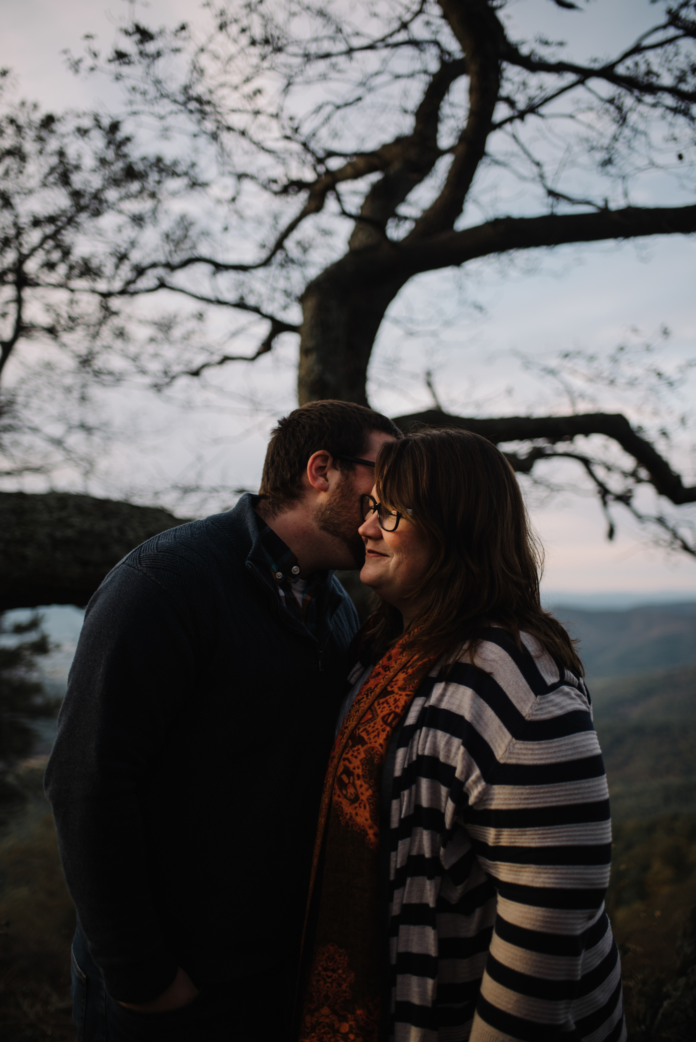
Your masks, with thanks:
<instances>
[{"instance_id":1,"label":"hazy blue distant mountain ridge on the horizon beside woman's shoulder","mask_svg":"<svg viewBox=\"0 0 696 1042\"><path fill-rule=\"evenodd\" d=\"M696 662L696 602L614 612L557 604L553 614L579 640L591 683Z\"/></svg>"}]
</instances>

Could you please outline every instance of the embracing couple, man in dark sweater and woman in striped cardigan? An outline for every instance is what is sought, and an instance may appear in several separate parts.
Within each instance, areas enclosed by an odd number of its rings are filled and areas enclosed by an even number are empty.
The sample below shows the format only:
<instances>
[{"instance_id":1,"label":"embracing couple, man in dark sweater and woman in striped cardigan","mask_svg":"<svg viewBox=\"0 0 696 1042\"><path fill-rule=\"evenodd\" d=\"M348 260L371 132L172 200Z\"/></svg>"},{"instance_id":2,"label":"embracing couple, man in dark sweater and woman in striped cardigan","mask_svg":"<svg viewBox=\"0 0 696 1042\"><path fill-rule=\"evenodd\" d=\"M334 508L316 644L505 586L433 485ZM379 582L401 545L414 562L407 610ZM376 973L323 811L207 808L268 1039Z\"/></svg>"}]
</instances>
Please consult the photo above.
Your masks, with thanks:
<instances>
[{"instance_id":1,"label":"embracing couple, man in dark sweater and woman in striped cardigan","mask_svg":"<svg viewBox=\"0 0 696 1042\"><path fill-rule=\"evenodd\" d=\"M539 574L493 445L339 401L117 565L46 777L78 1042L625 1039L604 769Z\"/></svg>"}]
</instances>

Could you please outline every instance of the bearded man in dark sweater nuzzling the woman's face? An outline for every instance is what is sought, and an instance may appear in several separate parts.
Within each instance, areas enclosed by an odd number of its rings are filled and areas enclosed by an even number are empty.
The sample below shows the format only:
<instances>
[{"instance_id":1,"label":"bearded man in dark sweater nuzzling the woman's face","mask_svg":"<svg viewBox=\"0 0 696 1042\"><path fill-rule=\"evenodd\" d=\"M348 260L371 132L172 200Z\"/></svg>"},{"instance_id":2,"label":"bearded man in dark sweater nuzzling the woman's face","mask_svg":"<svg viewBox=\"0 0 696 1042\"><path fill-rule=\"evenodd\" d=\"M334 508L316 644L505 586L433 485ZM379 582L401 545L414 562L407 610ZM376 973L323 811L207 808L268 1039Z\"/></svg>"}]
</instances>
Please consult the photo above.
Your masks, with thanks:
<instances>
[{"instance_id":1,"label":"bearded man in dark sweater nuzzling the woman's face","mask_svg":"<svg viewBox=\"0 0 696 1042\"><path fill-rule=\"evenodd\" d=\"M259 496L163 532L92 598L46 772L78 914L78 1042L282 1039L357 617L359 497L400 432L281 420Z\"/></svg>"}]
</instances>

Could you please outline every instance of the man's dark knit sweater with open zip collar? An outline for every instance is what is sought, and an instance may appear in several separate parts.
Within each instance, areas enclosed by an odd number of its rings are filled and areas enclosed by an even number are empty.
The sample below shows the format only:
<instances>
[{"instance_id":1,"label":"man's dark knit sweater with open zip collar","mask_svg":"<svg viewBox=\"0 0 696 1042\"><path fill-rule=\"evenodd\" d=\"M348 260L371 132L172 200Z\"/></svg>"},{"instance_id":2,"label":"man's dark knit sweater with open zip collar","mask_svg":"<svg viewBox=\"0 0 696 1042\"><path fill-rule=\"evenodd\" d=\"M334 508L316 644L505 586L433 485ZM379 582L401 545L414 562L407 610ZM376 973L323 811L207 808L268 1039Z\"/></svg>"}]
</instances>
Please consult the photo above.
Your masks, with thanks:
<instances>
[{"instance_id":1,"label":"man's dark knit sweater with open zip collar","mask_svg":"<svg viewBox=\"0 0 696 1042\"><path fill-rule=\"evenodd\" d=\"M291 961L355 610L280 603L253 499L156 536L88 607L46 772L83 934L145 1001Z\"/></svg>"}]
</instances>

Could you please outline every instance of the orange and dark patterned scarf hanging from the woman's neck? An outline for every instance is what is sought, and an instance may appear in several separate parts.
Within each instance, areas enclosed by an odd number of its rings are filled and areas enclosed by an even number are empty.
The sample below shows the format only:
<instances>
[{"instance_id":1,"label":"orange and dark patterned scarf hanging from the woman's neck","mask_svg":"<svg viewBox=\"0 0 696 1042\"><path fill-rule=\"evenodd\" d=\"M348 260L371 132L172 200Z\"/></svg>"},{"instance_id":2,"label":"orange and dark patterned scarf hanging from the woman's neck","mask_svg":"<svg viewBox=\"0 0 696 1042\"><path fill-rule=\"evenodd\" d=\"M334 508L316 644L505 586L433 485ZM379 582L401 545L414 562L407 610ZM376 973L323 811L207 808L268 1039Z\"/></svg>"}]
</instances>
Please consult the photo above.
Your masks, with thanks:
<instances>
[{"instance_id":1,"label":"orange and dark patterned scarf hanging from the woman's neck","mask_svg":"<svg viewBox=\"0 0 696 1042\"><path fill-rule=\"evenodd\" d=\"M331 751L307 915L300 1042L373 1042L379 1027L379 790L390 739L429 663L402 639L373 669Z\"/></svg>"}]
</instances>

